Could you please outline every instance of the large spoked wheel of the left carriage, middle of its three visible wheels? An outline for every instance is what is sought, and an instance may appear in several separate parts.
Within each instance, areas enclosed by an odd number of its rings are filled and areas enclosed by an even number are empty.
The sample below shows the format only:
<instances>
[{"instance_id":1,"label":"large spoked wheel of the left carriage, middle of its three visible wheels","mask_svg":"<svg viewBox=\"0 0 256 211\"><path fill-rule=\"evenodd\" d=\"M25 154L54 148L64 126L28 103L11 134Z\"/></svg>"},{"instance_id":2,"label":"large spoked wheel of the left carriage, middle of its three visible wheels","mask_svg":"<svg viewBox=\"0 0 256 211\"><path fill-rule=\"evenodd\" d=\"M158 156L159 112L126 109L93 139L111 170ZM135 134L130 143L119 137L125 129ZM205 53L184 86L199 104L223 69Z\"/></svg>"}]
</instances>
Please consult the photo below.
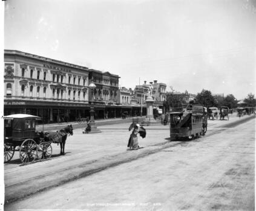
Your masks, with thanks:
<instances>
[{"instance_id":1,"label":"large spoked wheel of the left carriage, middle of its three visible wheels","mask_svg":"<svg viewBox=\"0 0 256 211\"><path fill-rule=\"evenodd\" d=\"M22 163L33 162L38 154L36 142L33 139L26 139L19 148L19 158Z\"/></svg>"}]
</instances>

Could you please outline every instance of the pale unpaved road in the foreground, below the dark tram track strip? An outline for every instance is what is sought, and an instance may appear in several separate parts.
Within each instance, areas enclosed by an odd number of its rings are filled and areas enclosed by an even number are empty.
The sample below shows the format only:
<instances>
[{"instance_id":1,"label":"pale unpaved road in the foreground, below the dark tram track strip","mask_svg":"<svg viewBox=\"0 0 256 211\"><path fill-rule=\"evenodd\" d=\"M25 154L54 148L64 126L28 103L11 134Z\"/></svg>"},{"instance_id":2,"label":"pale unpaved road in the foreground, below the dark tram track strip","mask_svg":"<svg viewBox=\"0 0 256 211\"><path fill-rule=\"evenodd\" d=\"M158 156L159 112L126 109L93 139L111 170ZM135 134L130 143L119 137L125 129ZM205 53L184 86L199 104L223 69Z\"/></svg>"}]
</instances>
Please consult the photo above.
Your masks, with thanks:
<instances>
[{"instance_id":1,"label":"pale unpaved road in the foreground, below the dark tram track strip","mask_svg":"<svg viewBox=\"0 0 256 211\"><path fill-rule=\"evenodd\" d=\"M7 204L5 210L254 210L255 119L222 126Z\"/></svg>"}]
</instances>

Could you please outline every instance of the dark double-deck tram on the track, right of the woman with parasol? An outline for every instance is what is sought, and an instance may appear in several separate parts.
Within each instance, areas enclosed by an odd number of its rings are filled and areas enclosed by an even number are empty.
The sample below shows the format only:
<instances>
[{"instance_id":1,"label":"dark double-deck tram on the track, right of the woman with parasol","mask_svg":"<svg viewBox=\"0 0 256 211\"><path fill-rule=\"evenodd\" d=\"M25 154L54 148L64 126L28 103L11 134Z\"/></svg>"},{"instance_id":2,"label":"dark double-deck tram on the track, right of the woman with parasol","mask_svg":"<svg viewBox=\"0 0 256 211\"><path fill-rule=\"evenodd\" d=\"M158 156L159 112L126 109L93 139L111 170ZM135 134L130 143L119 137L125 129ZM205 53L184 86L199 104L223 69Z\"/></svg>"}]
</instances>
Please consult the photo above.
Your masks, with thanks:
<instances>
[{"instance_id":1,"label":"dark double-deck tram on the track, right of the woman with parasol","mask_svg":"<svg viewBox=\"0 0 256 211\"><path fill-rule=\"evenodd\" d=\"M207 113L203 106L192 105L182 112L171 112L169 116L171 140L194 139L207 131Z\"/></svg>"}]
</instances>

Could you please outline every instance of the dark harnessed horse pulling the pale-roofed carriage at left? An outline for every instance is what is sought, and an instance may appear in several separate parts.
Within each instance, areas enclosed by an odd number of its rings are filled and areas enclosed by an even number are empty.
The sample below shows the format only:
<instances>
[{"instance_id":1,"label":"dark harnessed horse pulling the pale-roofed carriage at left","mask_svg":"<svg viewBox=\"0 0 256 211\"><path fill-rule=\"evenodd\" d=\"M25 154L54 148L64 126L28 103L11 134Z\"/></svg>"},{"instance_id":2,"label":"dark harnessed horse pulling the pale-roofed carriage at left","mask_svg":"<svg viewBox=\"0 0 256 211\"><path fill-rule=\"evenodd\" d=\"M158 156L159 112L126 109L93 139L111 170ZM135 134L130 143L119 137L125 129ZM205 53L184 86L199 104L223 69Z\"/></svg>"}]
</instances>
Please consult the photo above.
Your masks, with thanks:
<instances>
[{"instance_id":1,"label":"dark harnessed horse pulling the pale-roofed carriage at left","mask_svg":"<svg viewBox=\"0 0 256 211\"><path fill-rule=\"evenodd\" d=\"M65 143L67 140L67 136L70 134L73 136L73 127L72 125L68 125L64 129L61 129L56 132L45 132L44 140L47 142L60 143L61 144L61 154L65 154Z\"/></svg>"}]
</instances>

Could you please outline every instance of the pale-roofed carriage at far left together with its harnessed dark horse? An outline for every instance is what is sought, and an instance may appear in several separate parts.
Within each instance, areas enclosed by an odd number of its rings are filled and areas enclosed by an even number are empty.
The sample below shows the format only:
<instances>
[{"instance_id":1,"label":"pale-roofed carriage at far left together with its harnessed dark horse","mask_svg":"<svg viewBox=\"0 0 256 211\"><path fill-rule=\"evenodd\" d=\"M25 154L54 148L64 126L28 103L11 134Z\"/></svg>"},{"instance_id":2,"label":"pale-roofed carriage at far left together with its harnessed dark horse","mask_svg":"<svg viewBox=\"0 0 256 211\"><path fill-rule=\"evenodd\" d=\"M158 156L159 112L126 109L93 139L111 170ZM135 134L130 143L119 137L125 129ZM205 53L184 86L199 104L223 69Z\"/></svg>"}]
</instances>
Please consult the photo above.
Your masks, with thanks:
<instances>
[{"instance_id":1,"label":"pale-roofed carriage at far left together with its harnessed dark horse","mask_svg":"<svg viewBox=\"0 0 256 211\"><path fill-rule=\"evenodd\" d=\"M15 114L4 116L4 162L13 158L15 151L19 152L22 163L31 163L34 160L50 159L52 154L51 143L61 144L61 153L64 153L67 135L73 135L72 125L64 130L53 133L36 131L36 121L39 116Z\"/></svg>"}]
</instances>

